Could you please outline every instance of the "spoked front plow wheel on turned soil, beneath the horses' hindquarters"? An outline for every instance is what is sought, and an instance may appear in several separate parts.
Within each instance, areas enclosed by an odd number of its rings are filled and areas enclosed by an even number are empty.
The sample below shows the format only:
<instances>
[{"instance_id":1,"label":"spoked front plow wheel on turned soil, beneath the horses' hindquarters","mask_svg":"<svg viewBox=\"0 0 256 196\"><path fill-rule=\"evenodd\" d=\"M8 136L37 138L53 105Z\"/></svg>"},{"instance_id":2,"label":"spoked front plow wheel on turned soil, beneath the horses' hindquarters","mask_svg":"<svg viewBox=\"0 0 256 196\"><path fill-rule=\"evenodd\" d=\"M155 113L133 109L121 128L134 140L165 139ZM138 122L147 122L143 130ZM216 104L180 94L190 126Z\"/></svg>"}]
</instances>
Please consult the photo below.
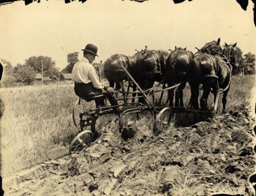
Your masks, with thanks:
<instances>
[{"instance_id":1,"label":"spoked front plow wheel on turned soil, beneath the horses' hindquarters","mask_svg":"<svg viewBox=\"0 0 256 196\"><path fill-rule=\"evenodd\" d=\"M171 124L172 110L168 107L163 108L157 115L154 126L153 133L159 135L163 131L167 130Z\"/></svg>"}]
</instances>

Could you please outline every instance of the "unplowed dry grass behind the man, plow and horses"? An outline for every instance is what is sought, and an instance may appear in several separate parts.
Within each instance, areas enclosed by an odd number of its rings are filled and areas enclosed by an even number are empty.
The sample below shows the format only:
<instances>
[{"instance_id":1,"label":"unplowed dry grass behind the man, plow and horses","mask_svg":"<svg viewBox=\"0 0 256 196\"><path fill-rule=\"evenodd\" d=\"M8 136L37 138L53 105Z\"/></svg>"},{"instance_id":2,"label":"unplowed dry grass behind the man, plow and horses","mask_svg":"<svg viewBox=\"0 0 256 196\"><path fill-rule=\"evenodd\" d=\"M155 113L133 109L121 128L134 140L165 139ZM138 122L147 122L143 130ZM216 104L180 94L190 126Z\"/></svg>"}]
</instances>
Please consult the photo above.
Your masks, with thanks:
<instances>
[{"instance_id":1,"label":"unplowed dry grass behind the man, plow and horses","mask_svg":"<svg viewBox=\"0 0 256 196\"><path fill-rule=\"evenodd\" d=\"M248 105L253 87L255 75L232 77L227 96L227 111ZM12 167L19 162L35 159L46 155L55 147L68 145L76 135L77 130L71 114L77 98L73 92L73 84L6 88L0 89L0 95L4 103L0 124L3 174L12 172ZM184 103L188 102L189 95L190 89L187 85ZM212 107L212 95L208 104ZM221 112L221 97L218 108ZM98 121L99 130L101 131L103 125L114 118L114 115L101 117ZM176 122L183 119L189 121L192 115L179 114L175 117ZM137 123L138 127L151 130L152 120L149 114L145 115ZM117 130L117 125L114 128ZM134 145L136 146L136 143Z\"/></svg>"}]
</instances>

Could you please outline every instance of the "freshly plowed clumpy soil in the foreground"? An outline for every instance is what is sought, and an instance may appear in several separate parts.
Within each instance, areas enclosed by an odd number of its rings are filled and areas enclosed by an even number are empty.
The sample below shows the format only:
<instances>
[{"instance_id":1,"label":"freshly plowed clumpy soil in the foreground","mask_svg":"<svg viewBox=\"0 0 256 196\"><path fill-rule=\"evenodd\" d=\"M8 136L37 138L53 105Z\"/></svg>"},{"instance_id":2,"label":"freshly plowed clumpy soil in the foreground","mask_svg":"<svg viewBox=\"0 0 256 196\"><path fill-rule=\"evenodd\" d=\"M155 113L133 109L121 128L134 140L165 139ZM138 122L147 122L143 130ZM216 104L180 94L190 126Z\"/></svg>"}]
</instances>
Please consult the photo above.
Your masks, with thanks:
<instances>
[{"instance_id":1,"label":"freshly plowed clumpy soil in the foreground","mask_svg":"<svg viewBox=\"0 0 256 196\"><path fill-rule=\"evenodd\" d=\"M249 112L215 115L157 137L138 130L128 141L112 121L87 149L6 176L3 189L23 196L253 195L255 119Z\"/></svg>"}]
</instances>

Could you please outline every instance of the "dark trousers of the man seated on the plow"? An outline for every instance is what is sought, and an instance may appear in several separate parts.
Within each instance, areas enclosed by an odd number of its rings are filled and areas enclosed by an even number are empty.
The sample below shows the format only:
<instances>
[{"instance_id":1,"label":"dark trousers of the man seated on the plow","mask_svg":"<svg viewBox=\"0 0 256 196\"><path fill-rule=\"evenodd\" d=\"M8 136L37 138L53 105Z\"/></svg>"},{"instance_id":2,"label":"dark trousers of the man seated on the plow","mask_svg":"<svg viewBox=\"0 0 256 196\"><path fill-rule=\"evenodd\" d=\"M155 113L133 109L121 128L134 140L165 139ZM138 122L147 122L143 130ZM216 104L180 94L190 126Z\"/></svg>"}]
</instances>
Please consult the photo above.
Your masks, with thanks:
<instances>
[{"instance_id":1,"label":"dark trousers of the man seated on the plow","mask_svg":"<svg viewBox=\"0 0 256 196\"><path fill-rule=\"evenodd\" d=\"M84 84L75 82L74 90L76 95L79 97L94 97L97 95L105 95L112 106L117 105L116 95L114 92L109 92L106 89L96 89L93 87L92 83ZM102 98L97 98L94 101L96 106L104 105L104 99Z\"/></svg>"}]
</instances>

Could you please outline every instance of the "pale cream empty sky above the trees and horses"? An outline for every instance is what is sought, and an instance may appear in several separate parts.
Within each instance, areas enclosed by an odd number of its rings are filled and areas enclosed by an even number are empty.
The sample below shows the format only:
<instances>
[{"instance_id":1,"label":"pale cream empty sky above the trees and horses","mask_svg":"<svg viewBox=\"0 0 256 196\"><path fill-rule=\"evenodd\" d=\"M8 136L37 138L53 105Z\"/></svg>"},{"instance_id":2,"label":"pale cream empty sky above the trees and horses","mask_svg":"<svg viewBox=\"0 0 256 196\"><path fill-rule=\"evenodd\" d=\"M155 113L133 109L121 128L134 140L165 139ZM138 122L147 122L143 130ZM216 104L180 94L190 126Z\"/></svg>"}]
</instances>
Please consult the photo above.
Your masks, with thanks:
<instances>
[{"instance_id":1,"label":"pale cream empty sky above the trees and horses","mask_svg":"<svg viewBox=\"0 0 256 196\"><path fill-rule=\"evenodd\" d=\"M67 54L87 43L98 47L96 63L135 49L187 47L196 52L221 38L236 43L244 54L256 53L253 3L247 11L236 0L41 0L25 6L17 1L0 6L0 58L16 66L31 56L49 56L56 67L67 66Z\"/></svg>"}]
</instances>

